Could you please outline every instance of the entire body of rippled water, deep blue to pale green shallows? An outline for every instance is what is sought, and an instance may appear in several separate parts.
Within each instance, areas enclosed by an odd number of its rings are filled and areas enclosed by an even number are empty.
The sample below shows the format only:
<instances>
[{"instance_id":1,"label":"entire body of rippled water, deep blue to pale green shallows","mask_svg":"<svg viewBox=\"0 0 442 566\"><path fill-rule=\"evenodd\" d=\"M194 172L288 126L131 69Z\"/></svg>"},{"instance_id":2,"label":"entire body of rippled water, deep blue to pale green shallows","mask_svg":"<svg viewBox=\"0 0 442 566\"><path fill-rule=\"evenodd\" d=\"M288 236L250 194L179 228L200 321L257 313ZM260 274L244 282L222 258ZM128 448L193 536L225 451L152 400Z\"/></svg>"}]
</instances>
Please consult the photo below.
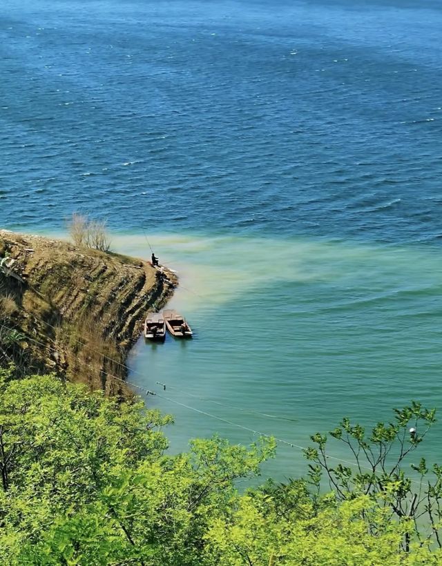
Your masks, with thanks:
<instances>
[{"instance_id":1,"label":"entire body of rippled water, deep blue to pale green shallows","mask_svg":"<svg viewBox=\"0 0 442 566\"><path fill-rule=\"evenodd\" d=\"M195 339L130 358L172 449L442 408L441 28L431 0L3 9L0 224L88 212L177 270Z\"/></svg>"}]
</instances>

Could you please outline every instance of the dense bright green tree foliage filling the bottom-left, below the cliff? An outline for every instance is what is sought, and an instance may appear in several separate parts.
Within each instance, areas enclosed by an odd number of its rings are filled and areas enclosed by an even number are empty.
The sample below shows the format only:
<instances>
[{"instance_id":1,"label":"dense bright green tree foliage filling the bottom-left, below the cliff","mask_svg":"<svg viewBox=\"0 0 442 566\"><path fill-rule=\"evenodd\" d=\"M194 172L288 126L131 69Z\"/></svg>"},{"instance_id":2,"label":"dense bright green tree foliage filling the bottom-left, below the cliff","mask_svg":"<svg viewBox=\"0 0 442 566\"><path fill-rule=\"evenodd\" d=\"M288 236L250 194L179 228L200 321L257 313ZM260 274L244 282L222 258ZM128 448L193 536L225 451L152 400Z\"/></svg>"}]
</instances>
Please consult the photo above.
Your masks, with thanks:
<instances>
[{"instance_id":1,"label":"dense bright green tree foliage filling the bottom-left, below the cliff","mask_svg":"<svg viewBox=\"0 0 442 566\"><path fill-rule=\"evenodd\" d=\"M171 457L171 422L55 376L0 396L0 563L199 564L209 519L273 443L195 440Z\"/></svg>"}]
</instances>

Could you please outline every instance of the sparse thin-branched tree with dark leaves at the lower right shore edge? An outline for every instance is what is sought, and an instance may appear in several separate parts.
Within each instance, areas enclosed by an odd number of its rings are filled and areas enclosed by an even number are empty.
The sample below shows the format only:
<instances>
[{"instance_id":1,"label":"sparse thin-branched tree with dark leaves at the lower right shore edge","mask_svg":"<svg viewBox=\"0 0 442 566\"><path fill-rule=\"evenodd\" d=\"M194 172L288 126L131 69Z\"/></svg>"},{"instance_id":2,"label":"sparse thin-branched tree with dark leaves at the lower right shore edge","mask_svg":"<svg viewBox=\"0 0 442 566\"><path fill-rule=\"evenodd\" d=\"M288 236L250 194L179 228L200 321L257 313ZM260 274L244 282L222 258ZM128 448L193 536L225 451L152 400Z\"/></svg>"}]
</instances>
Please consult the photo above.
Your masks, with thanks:
<instances>
[{"instance_id":1,"label":"sparse thin-branched tree with dark leaves at the lower right shore edge","mask_svg":"<svg viewBox=\"0 0 442 566\"><path fill-rule=\"evenodd\" d=\"M436 421L435 410L423 409L418 402L410 407L394 409L394 422L378 422L366 433L361 424L352 424L348 418L329 434L343 442L354 466L338 463L333 466L326 452L327 436L316 433L311 440L316 447L305 451L311 484L319 491L325 477L338 501L368 496L378 507L385 509L390 521L394 518L408 527L403 533L405 552L416 540L421 547L441 545L442 467L434 465L432 474L425 458L419 465L411 465L415 478L405 474L407 456L421 444L427 431ZM430 529L427 525L430 524ZM369 525L376 534L376 525Z\"/></svg>"}]
</instances>

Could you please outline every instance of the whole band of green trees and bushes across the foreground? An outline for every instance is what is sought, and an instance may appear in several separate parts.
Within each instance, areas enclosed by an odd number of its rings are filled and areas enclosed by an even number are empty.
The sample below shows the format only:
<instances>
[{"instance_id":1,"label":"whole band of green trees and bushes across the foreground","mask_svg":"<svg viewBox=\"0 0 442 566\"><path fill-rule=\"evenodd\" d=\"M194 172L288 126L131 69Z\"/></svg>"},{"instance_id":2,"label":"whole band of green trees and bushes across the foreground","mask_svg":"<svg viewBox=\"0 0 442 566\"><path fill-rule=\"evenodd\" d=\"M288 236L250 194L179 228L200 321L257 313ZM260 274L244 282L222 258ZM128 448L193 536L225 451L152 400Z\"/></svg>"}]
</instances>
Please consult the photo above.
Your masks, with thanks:
<instances>
[{"instance_id":1,"label":"whole band of green trees and bushes across the foreground","mask_svg":"<svg viewBox=\"0 0 442 566\"><path fill-rule=\"evenodd\" d=\"M408 440L410 419L424 430L434 413L413 404L371 436L344 420L333 434L350 442L360 468L329 467L325 437L316 435L307 480L240 494L238 478L258 474L273 456L268 438L249 449L218 437L193 440L188 453L170 456L162 433L170 416L54 375L12 380L1 370L0 563L441 563L439 468L432 484L421 462L425 481L417 485L401 469L421 440ZM363 459L372 457L365 470ZM319 489L322 472L329 491Z\"/></svg>"}]
</instances>

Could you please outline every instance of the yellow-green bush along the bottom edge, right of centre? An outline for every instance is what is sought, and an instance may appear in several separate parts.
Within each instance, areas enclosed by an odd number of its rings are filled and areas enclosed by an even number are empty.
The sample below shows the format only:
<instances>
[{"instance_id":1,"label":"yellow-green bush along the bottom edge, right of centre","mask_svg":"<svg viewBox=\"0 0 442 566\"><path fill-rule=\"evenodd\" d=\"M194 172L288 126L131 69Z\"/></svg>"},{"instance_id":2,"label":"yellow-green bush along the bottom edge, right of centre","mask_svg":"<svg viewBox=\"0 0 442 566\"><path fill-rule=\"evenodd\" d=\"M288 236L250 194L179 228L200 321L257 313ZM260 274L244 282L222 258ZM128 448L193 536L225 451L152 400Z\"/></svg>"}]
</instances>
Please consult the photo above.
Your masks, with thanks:
<instances>
[{"instance_id":1,"label":"yellow-green bush along the bottom edge, right of centre","mask_svg":"<svg viewBox=\"0 0 442 566\"><path fill-rule=\"evenodd\" d=\"M229 518L213 521L209 549L225 566L306 565L341 566L437 563L427 549L413 555L398 553L403 527L391 523L383 509L367 496L332 505L325 500L314 512L303 487L295 487L302 505L289 516L277 512L273 499L244 496ZM376 524L373 536L367 523Z\"/></svg>"}]
</instances>

